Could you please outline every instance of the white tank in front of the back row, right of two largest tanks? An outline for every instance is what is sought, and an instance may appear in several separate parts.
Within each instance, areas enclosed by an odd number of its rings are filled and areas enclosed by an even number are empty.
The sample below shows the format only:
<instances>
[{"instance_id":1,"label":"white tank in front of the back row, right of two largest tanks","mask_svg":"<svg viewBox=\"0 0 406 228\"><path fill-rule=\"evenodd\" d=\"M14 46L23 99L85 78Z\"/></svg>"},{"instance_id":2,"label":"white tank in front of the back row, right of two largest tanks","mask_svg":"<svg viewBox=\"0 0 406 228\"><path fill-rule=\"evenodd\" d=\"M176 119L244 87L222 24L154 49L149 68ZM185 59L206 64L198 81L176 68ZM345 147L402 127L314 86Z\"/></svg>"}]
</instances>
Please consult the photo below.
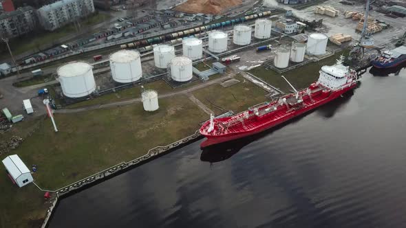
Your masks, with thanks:
<instances>
[{"instance_id":1,"label":"white tank in front of the back row, right of two largest tanks","mask_svg":"<svg viewBox=\"0 0 406 228\"><path fill-rule=\"evenodd\" d=\"M192 79L192 60L186 56L178 56L171 60L171 78L176 82L186 82Z\"/></svg>"}]
</instances>

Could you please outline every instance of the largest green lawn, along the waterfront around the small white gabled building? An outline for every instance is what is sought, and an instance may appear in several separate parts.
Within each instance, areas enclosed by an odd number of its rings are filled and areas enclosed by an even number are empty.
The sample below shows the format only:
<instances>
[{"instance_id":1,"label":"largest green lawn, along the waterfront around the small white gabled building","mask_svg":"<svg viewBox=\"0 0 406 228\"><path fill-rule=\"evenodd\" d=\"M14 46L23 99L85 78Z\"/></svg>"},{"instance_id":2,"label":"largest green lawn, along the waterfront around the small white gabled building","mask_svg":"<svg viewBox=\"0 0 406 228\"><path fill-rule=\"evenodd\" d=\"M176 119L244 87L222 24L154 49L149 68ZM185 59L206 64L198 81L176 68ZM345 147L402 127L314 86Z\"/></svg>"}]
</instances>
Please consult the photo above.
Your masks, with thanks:
<instances>
[{"instance_id":1,"label":"largest green lawn, along the waterfront around the small white gabled building","mask_svg":"<svg viewBox=\"0 0 406 228\"><path fill-rule=\"evenodd\" d=\"M186 96L159 100L160 109L149 113L142 104L100 109L77 114L55 114L58 133L50 119L10 154L30 167L36 164L34 181L56 190L79 179L145 155L191 135L208 118ZM185 122L185 119L187 120ZM33 124L30 122L30 124ZM16 124L16 127L18 125ZM10 135L19 132L10 132ZM0 155L4 159L6 155ZM0 168L0 227L39 227L45 216L43 192L30 184L19 189ZM35 225L35 226L33 226Z\"/></svg>"}]
</instances>

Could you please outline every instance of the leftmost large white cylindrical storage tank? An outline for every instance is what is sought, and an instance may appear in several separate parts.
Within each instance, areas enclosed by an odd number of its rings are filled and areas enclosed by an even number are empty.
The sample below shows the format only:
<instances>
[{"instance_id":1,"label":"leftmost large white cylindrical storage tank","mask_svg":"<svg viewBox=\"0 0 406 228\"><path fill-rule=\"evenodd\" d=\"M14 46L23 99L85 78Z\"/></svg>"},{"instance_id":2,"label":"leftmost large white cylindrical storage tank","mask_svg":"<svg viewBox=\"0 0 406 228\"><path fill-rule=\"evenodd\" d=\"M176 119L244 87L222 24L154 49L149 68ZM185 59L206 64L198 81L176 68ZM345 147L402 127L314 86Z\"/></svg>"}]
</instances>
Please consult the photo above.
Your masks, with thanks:
<instances>
[{"instance_id":1,"label":"leftmost large white cylindrical storage tank","mask_svg":"<svg viewBox=\"0 0 406 228\"><path fill-rule=\"evenodd\" d=\"M56 73L63 94L68 98L82 98L96 89L92 66L87 62L68 62L58 67Z\"/></svg>"}]
</instances>

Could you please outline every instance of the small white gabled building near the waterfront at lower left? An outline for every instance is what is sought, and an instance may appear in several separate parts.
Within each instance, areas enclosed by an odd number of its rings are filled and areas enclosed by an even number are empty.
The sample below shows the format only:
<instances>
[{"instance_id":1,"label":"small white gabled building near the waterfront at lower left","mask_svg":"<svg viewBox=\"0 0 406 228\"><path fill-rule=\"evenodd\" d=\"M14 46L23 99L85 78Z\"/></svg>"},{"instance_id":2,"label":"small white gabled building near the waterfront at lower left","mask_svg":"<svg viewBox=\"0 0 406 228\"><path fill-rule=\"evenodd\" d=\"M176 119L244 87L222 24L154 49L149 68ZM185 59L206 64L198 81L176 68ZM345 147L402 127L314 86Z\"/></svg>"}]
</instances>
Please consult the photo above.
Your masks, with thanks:
<instances>
[{"instance_id":1,"label":"small white gabled building near the waterfront at lower left","mask_svg":"<svg viewBox=\"0 0 406 228\"><path fill-rule=\"evenodd\" d=\"M21 161L19 155L10 155L3 160L3 165L6 167L8 174L19 187L28 185L34 181L31 176L30 170Z\"/></svg>"}]
</instances>

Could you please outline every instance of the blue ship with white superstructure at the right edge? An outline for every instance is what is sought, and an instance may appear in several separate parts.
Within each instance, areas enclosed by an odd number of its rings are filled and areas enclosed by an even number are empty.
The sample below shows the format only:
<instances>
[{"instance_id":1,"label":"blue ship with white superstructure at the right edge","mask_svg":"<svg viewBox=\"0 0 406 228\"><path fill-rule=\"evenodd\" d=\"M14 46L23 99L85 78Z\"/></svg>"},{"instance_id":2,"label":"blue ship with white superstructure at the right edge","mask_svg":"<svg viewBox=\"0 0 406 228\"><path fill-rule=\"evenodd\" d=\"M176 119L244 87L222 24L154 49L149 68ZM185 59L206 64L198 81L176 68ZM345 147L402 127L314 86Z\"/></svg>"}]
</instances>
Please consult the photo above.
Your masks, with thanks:
<instances>
[{"instance_id":1,"label":"blue ship with white superstructure at the right edge","mask_svg":"<svg viewBox=\"0 0 406 228\"><path fill-rule=\"evenodd\" d=\"M372 65L376 68L396 67L406 62L406 47L400 46L390 51L382 52L381 56L372 60Z\"/></svg>"}]
</instances>

